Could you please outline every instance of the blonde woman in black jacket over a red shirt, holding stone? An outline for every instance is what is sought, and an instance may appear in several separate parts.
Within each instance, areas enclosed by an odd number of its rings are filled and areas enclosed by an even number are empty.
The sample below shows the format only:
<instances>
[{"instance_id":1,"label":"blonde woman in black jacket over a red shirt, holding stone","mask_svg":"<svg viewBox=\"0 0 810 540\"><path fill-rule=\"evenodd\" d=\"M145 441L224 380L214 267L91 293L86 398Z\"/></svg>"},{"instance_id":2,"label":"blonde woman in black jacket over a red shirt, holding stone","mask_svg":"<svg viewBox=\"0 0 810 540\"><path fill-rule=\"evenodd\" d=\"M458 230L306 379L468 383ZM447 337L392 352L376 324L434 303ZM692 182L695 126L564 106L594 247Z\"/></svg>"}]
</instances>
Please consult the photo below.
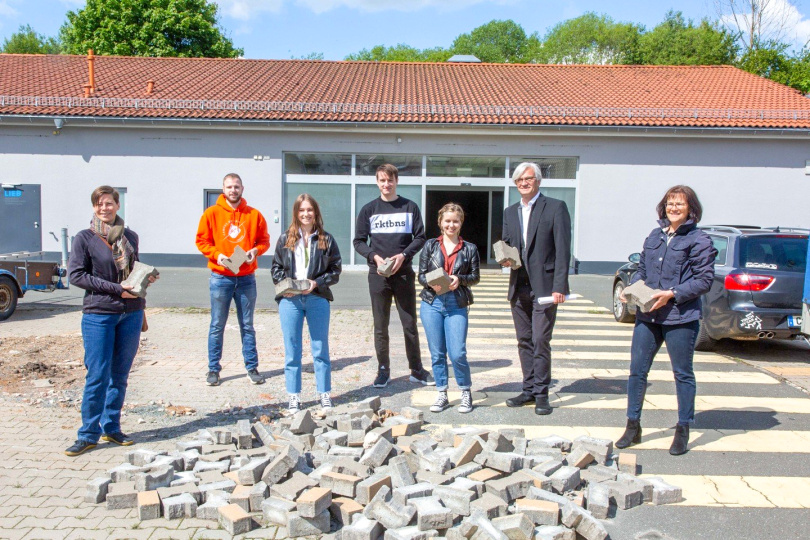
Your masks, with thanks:
<instances>
[{"instance_id":1,"label":"blonde woman in black jacket over a red shirt, holding stone","mask_svg":"<svg viewBox=\"0 0 810 540\"><path fill-rule=\"evenodd\" d=\"M419 257L419 283L424 286L419 295L422 298L419 317L427 336L436 390L439 391L436 402L430 407L432 412L441 412L450 404L447 399L448 354L461 390L458 412L472 411L472 381L467 363L467 312L473 303L470 287L478 283L481 275L478 248L459 236L463 223L461 206L445 204L439 210L442 235L428 240ZM427 274L438 268L443 268L450 276L449 288L428 283Z\"/></svg>"}]
</instances>

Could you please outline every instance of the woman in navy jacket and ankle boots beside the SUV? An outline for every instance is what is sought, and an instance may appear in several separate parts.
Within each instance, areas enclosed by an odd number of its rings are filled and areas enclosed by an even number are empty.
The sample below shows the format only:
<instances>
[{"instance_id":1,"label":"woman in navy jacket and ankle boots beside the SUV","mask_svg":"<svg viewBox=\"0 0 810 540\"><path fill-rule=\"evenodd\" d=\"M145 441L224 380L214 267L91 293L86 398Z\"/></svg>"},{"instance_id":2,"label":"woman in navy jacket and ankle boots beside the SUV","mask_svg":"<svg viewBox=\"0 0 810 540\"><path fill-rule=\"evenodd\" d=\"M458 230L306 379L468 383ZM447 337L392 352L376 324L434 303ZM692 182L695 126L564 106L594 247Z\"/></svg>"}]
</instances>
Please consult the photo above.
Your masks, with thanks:
<instances>
[{"instance_id":1,"label":"woman in navy jacket and ankle boots beside the SUV","mask_svg":"<svg viewBox=\"0 0 810 540\"><path fill-rule=\"evenodd\" d=\"M652 295L656 302L649 312L636 312L627 380L627 428L616 447L641 442L647 374L661 344L666 343L678 398L678 425L669 453L678 456L686 453L689 425L695 420L697 385L692 357L700 328L700 297L711 289L717 250L709 235L697 228L703 207L690 187L670 188L657 210L659 227L644 241L632 282L642 280L658 292Z\"/></svg>"}]
</instances>

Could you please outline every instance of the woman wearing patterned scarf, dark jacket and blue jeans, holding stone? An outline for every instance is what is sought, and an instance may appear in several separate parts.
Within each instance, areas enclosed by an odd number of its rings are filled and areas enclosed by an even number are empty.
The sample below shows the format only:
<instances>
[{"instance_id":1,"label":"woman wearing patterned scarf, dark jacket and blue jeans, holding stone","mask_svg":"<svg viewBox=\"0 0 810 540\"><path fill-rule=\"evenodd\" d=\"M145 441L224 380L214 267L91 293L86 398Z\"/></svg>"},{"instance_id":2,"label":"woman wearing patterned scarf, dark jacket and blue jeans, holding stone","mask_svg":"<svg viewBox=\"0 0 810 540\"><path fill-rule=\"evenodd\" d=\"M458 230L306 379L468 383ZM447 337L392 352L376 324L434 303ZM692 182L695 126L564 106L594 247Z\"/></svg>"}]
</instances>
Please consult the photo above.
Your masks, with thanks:
<instances>
[{"instance_id":1,"label":"woman wearing patterned scarf, dark jacket and blue jeans, holding stone","mask_svg":"<svg viewBox=\"0 0 810 540\"><path fill-rule=\"evenodd\" d=\"M138 352L145 302L121 285L138 260L138 235L118 217L118 192L101 186L90 195L90 228L73 239L70 284L85 289L82 309L84 365L82 427L67 450L78 456L95 448L99 437L133 444L121 432L121 407L132 361ZM153 282L154 278L150 278Z\"/></svg>"}]
</instances>

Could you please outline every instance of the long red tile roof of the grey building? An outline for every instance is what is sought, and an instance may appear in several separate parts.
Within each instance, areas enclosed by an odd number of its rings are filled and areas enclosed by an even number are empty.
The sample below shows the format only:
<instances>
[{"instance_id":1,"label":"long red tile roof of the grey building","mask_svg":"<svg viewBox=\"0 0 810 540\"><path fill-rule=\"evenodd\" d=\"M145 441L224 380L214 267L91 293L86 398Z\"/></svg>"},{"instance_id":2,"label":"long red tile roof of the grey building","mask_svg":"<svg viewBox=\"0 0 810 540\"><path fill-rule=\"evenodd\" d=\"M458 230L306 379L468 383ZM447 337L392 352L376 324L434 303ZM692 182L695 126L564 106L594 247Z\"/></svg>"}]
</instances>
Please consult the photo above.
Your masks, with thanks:
<instances>
[{"instance_id":1,"label":"long red tile roof of the grey building","mask_svg":"<svg viewBox=\"0 0 810 540\"><path fill-rule=\"evenodd\" d=\"M810 100L730 66L96 56L95 80L85 99L86 57L0 54L0 114L810 128Z\"/></svg>"}]
</instances>

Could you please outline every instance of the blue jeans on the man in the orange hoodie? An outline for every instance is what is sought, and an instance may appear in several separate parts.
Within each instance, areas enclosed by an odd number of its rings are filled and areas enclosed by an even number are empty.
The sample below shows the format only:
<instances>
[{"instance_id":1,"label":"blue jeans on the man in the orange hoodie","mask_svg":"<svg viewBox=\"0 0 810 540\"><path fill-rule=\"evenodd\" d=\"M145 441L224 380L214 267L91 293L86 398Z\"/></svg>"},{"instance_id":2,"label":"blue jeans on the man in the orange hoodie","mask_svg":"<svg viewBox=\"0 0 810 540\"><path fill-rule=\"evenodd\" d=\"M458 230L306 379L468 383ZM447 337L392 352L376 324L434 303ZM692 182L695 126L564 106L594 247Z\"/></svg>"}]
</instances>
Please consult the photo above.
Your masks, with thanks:
<instances>
[{"instance_id":1,"label":"blue jeans on the man in the orange hoodie","mask_svg":"<svg viewBox=\"0 0 810 540\"><path fill-rule=\"evenodd\" d=\"M211 292L211 327L208 330L208 371L219 373L222 366L222 341L231 300L236 304L236 318L242 336L242 357L248 371L259 367L256 352L256 331L253 329L253 310L256 308L256 276L223 276L211 272L208 279Z\"/></svg>"}]
</instances>

